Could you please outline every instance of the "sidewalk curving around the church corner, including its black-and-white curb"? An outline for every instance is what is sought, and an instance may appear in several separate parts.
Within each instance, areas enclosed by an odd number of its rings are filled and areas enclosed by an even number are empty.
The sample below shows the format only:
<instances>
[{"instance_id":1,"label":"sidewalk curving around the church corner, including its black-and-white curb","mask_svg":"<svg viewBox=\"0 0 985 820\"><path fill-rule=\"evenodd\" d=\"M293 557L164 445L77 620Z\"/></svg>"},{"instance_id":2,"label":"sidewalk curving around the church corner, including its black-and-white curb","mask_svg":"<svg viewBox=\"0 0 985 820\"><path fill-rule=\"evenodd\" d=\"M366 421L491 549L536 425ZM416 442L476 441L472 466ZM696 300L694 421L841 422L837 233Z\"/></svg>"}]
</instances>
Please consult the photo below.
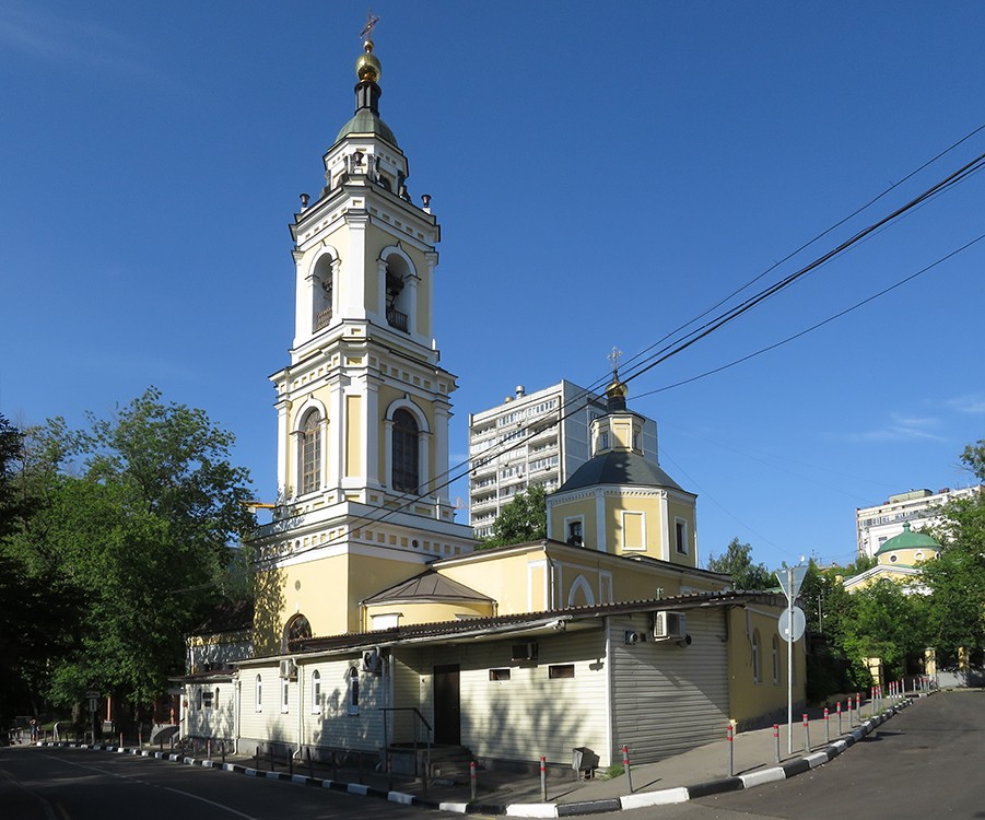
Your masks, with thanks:
<instances>
[{"instance_id":1,"label":"sidewalk curving around the church corner, including its black-and-white curb","mask_svg":"<svg viewBox=\"0 0 985 820\"><path fill-rule=\"evenodd\" d=\"M914 694L913 698L917 695ZM625 775L611 780L599 777L587 781L547 780L547 799L541 793L539 776L515 772L480 770L477 774L477 799L471 801L469 784L435 781L425 790L420 781L370 770L333 769L314 763L308 775L306 764L298 763L294 773L263 771L255 766L253 758L218 757L212 760L185 757L154 749L119 748L106 745L82 745L82 748L102 749L118 753L172 760L190 765L222 769L242 775L270 780L292 781L307 786L330 788L349 794L379 797L392 803L418 805L443 811L469 815L507 815L512 817L570 817L575 815L620 811L624 809L683 803L723 792L751 788L764 783L786 780L823 765L855 742L875 731L879 725L899 710L908 706L904 699L895 705L886 705L873 715L872 704L861 706L863 723L842 715L842 734L837 734L836 714L829 717L831 742L825 742L823 712L810 711L810 749L805 749L804 723L795 716L793 727L793 753L788 750L786 726L779 727L779 762L776 760L776 739L773 728L743 731L732 742L732 775L729 776L728 740L707 743L682 754L656 763L632 765L632 789ZM723 736L725 735L723 727ZM39 746L68 743L40 742ZM72 743L72 746L79 746ZM265 765L266 769L266 765Z\"/></svg>"}]
</instances>

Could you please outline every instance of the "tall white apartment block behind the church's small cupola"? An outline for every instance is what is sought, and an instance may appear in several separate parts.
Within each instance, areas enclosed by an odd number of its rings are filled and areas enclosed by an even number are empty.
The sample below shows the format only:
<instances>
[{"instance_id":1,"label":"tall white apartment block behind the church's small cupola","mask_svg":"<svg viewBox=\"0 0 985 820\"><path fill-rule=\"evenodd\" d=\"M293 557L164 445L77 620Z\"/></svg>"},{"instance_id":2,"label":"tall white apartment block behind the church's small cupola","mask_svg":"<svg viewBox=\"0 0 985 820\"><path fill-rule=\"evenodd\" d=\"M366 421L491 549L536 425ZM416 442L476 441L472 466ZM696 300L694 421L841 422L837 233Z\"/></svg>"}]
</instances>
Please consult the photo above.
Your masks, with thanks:
<instances>
[{"instance_id":1,"label":"tall white apartment block behind the church's small cupola","mask_svg":"<svg viewBox=\"0 0 985 820\"><path fill-rule=\"evenodd\" d=\"M500 511L528 487L556 490L591 457L593 419L606 399L561 380L536 393L520 385L490 410L469 414L469 523L477 538L492 535ZM657 460L657 423L645 419L644 457Z\"/></svg>"}]
</instances>

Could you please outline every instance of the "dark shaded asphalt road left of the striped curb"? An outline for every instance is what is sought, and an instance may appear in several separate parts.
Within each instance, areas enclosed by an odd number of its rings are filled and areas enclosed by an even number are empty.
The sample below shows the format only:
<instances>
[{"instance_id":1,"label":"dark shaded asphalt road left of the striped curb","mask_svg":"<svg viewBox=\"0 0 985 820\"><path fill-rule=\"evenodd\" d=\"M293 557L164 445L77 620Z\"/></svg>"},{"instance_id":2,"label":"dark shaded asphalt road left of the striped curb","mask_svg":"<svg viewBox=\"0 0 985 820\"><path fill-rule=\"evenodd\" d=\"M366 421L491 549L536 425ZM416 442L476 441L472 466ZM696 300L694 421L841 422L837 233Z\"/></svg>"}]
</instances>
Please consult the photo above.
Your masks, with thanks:
<instances>
[{"instance_id":1,"label":"dark shaded asphalt road left of the striped curb","mask_svg":"<svg viewBox=\"0 0 985 820\"><path fill-rule=\"evenodd\" d=\"M294 783L87 749L0 749L0 818L268 820L461 817Z\"/></svg>"}]
</instances>

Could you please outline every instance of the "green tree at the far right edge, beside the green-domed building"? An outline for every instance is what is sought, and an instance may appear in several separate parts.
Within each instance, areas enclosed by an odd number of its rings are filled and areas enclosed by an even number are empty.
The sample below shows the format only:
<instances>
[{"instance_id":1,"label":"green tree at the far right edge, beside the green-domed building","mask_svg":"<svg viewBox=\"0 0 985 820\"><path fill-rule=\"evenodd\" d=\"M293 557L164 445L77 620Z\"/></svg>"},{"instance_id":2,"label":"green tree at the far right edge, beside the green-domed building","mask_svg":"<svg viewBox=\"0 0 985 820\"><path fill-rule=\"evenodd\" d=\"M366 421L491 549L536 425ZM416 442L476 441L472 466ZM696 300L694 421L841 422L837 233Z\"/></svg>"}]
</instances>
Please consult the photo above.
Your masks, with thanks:
<instances>
[{"instance_id":1,"label":"green tree at the far right edge, beside the green-domed building","mask_svg":"<svg viewBox=\"0 0 985 820\"><path fill-rule=\"evenodd\" d=\"M985 482L985 441L964 448L961 461ZM920 564L930 589L928 620L931 644L942 664L953 663L960 647L985 648L985 497L955 499L942 509L935 531L940 558Z\"/></svg>"}]
</instances>

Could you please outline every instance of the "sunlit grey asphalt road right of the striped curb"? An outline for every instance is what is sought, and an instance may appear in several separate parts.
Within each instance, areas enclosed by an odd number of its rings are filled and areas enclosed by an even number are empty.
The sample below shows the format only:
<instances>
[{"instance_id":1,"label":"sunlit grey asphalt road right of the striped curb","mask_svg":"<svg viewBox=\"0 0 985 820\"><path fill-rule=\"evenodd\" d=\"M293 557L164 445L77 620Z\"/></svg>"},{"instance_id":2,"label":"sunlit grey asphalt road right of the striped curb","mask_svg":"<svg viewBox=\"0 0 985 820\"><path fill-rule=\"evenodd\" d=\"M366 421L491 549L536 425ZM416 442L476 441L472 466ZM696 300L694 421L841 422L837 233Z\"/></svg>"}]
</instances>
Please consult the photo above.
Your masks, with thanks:
<instances>
[{"instance_id":1,"label":"sunlit grey asphalt road right of the striped curb","mask_svg":"<svg viewBox=\"0 0 985 820\"><path fill-rule=\"evenodd\" d=\"M922 699L826 765L788 781L678 806L624 811L619 817L985 818L985 692L943 692Z\"/></svg>"}]
</instances>

